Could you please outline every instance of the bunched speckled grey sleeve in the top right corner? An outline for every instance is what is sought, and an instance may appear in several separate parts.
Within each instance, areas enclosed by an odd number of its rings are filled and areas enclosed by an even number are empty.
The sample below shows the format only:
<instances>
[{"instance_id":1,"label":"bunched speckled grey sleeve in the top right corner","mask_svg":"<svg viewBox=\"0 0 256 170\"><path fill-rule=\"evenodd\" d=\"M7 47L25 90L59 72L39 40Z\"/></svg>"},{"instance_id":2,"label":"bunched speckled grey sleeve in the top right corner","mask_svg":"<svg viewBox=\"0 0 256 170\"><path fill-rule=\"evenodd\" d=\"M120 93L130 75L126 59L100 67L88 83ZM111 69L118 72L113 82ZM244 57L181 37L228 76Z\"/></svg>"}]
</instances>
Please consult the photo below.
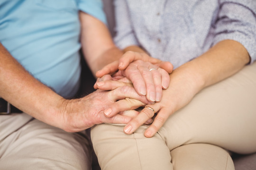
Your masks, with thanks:
<instances>
[{"instance_id":1,"label":"bunched speckled grey sleeve in the top right corner","mask_svg":"<svg viewBox=\"0 0 256 170\"><path fill-rule=\"evenodd\" d=\"M227 39L240 42L251 63L256 60L256 0L220 0L213 45Z\"/></svg>"}]
</instances>

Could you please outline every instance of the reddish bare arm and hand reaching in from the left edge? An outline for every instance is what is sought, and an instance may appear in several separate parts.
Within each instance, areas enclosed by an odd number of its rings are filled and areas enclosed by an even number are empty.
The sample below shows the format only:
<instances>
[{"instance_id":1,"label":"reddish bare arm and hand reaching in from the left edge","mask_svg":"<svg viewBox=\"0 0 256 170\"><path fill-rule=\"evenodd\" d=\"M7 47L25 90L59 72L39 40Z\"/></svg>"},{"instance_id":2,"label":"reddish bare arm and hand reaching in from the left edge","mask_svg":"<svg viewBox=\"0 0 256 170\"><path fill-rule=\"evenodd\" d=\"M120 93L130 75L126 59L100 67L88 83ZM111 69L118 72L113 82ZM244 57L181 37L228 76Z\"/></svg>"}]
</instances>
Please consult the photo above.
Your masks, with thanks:
<instances>
[{"instance_id":1,"label":"reddish bare arm and hand reaching in from the left edge","mask_svg":"<svg viewBox=\"0 0 256 170\"><path fill-rule=\"evenodd\" d=\"M149 103L127 84L112 91L97 90L81 99L67 100L31 76L1 44L0 61L0 96L34 118L69 132L103 122L127 123L129 116L108 118L103 114L108 105L117 101L129 103L127 97Z\"/></svg>"}]
</instances>

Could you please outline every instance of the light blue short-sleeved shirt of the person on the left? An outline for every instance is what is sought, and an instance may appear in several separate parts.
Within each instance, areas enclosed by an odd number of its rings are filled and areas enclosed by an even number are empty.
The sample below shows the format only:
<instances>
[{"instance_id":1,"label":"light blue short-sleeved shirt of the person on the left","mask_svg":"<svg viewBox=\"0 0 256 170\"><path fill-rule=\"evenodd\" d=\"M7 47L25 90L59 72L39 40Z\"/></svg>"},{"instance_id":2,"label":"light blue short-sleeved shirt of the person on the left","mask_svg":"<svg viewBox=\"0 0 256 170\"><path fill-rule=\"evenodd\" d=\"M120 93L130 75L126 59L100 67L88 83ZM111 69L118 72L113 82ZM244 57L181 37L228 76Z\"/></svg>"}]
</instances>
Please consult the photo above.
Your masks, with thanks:
<instances>
[{"instance_id":1,"label":"light blue short-sleeved shirt of the person on the left","mask_svg":"<svg viewBox=\"0 0 256 170\"><path fill-rule=\"evenodd\" d=\"M0 42L64 97L79 88L82 10L106 23L101 0L0 0Z\"/></svg>"}]
</instances>

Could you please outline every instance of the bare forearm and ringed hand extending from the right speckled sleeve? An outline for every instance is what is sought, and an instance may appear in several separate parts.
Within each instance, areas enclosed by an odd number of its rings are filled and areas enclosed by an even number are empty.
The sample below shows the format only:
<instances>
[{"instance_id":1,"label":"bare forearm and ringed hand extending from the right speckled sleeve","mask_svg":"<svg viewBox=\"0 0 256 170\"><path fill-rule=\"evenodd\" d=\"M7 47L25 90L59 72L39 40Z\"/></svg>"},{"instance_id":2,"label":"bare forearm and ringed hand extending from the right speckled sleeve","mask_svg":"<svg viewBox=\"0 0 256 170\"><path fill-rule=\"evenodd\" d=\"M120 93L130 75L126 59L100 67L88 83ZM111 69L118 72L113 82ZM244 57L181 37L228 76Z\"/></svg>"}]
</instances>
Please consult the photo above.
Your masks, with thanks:
<instances>
[{"instance_id":1,"label":"bare forearm and ringed hand extending from the right speckled sleeve","mask_svg":"<svg viewBox=\"0 0 256 170\"><path fill-rule=\"evenodd\" d=\"M131 56L130 59L127 57L126 59L128 63L132 61L133 57ZM166 119L190 102L201 89L235 74L249 61L250 57L242 44L232 40L224 40L198 58L176 68L170 74L170 85L163 91L162 100L155 102L155 104L146 105L153 108L157 114L144 135L146 137L154 136ZM110 86L109 83L104 88L107 89ZM124 110L124 108L119 110ZM112 111L106 116L111 117L117 114L119 110ZM145 107L135 119L132 119L124 127L124 132L127 134L133 133L146 120L154 116L154 111Z\"/></svg>"}]
</instances>

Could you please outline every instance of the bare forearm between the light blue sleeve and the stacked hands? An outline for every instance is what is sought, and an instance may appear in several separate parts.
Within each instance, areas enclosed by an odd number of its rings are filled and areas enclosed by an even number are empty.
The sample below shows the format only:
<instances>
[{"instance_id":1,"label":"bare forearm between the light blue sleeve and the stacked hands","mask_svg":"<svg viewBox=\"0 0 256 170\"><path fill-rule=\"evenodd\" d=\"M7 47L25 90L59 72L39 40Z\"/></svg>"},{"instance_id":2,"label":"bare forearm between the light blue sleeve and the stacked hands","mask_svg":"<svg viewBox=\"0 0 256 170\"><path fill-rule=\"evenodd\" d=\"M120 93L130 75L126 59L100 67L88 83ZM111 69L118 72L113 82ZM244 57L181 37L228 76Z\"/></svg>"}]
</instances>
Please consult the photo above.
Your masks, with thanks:
<instances>
[{"instance_id":1,"label":"bare forearm between the light blue sleeve and the stacked hands","mask_svg":"<svg viewBox=\"0 0 256 170\"><path fill-rule=\"evenodd\" d=\"M118 60L123 52L115 46L107 26L100 20L80 12L80 21L82 51L95 76L96 71Z\"/></svg>"}]
</instances>

